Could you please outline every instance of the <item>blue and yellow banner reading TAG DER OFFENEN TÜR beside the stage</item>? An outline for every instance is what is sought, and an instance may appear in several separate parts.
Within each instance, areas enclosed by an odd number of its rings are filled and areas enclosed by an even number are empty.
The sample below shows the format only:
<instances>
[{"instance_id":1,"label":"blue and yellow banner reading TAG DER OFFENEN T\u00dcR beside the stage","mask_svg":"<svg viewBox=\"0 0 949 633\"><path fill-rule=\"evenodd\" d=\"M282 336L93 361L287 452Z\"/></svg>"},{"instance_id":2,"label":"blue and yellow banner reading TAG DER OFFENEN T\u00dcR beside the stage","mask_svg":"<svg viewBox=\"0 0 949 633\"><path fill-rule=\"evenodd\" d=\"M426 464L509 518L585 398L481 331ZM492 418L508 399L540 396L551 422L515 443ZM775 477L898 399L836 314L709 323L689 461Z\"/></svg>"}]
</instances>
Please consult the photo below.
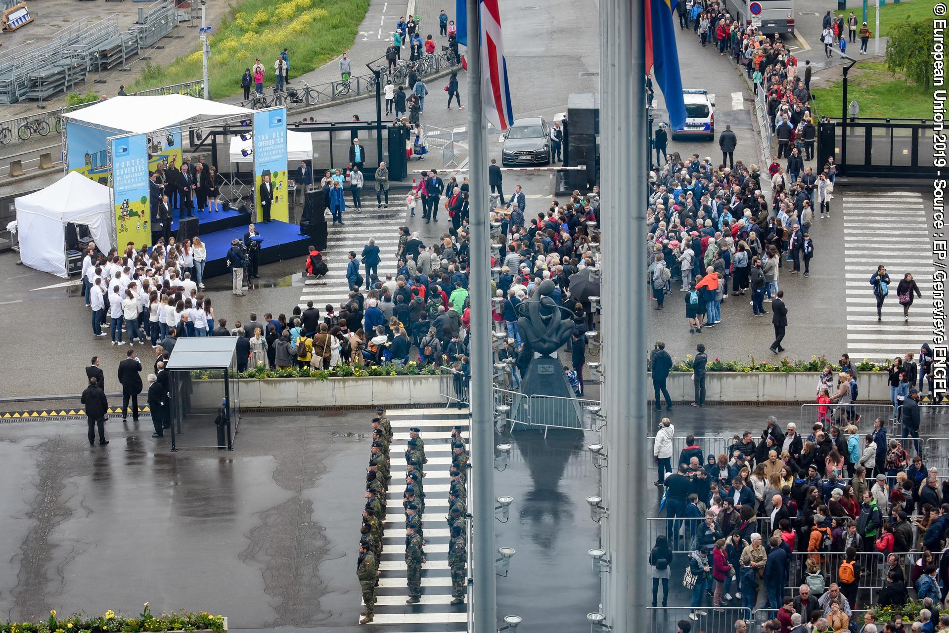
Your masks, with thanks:
<instances>
[{"instance_id":1,"label":"blue and yellow banner reading TAG DER OFFENEN T\u00dcR beside the stage","mask_svg":"<svg viewBox=\"0 0 949 633\"><path fill-rule=\"evenodd\" d=\"M270 219L289 222L287 202L287 108L274 108L253 115L253 190L257 222L263 222L260 186L270 175L273 202Z\"/></svg>"}]
</instances>

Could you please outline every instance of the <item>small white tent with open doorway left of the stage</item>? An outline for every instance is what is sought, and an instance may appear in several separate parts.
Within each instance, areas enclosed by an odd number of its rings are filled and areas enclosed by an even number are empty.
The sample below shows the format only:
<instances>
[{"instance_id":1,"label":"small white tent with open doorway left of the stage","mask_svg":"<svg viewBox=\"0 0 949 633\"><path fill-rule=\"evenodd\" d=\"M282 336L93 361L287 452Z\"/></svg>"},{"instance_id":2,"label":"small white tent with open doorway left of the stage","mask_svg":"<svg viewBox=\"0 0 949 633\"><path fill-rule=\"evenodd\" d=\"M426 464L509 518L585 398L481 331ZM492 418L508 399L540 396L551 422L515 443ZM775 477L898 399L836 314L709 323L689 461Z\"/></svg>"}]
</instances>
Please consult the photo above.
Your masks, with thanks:
<instances>
[{"instance_id":1,"label":"small white tent with open doorway left of the stage","mask_svg":"<svg viewBox=\"0 0 949 633\"><path fill-rule=\"evenodd\" d=\"M115 245L115 210L109 188L78 172L69 172L44 190L16 198L20 260L30 268L62 278L66 272L66 223L85 225L96 246L107 253Z\"/></svg>"}]
</instances>

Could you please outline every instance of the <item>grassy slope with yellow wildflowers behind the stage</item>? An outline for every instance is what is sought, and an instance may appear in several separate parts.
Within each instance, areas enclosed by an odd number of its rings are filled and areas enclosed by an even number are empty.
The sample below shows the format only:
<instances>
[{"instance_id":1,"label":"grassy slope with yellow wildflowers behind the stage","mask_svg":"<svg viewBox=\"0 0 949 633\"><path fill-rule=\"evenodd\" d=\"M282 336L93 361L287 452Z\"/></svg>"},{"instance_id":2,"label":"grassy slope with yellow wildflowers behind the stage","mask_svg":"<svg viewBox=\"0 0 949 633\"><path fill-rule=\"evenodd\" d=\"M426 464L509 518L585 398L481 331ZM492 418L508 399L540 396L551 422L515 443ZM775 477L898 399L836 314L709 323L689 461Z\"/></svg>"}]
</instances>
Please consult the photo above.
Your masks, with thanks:
<instances>
[{"instance_id":1,"label":"grassy slope with yellow wildflowers behind the stage","mask_svg":"<svg viewBox=\"0 0 949 633\"><path fill-rule=\"evenodd\" d=\"M208 63L212 99L240 93L244 68L256 58L273 83L273 63L289 49L290 77L313 70L340 55L356 39L369 0L239 0L215 27ZM147 65L132 90L201 78L201 52L177 58L167 67Z\"/></svg>"}]
</instances>

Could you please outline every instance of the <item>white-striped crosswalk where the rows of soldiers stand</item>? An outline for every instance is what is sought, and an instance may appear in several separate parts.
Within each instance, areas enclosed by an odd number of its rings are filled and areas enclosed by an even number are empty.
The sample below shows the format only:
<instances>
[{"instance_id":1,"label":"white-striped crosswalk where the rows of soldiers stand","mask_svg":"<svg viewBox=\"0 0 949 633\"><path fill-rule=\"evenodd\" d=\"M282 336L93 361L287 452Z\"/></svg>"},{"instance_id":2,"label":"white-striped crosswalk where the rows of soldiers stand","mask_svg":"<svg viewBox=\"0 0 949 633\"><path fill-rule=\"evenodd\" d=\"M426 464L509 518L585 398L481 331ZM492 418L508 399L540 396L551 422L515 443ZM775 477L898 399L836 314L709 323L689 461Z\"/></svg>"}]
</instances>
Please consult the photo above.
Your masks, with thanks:
<instances>
[{"instance_id":1,"label":"white-striped crosswalk where the rows of soldiers stand","mask_svg":"<svg viewBox=\"0 0 949 633\"><path fill-rule=\"evenodd\" d=\"M348 223L347 223L348 226ZM379 564L381 576L376 588L376 611L371 624L373 630L452 633L466 630L467 601L450 605L452 578L448 567L450 533L446 522L449 470L451 458L447 448L455 425L468 438L467 410L429 409L426 411L390 410L386 415L392 424L392 444L389 448L392 480L389 482L385 532L382 536L382 554ZM409 440L408 429L419 428L425 441L425 510L422 513L422 531L425 539L425 563L421 568L421 598L419 604L406 605L408 598L407 569L405 565L405 515L402 498L405 490L405 460L402 458ZM439 457L434 458L433 455Z\"/></svg>"}]
</instances>

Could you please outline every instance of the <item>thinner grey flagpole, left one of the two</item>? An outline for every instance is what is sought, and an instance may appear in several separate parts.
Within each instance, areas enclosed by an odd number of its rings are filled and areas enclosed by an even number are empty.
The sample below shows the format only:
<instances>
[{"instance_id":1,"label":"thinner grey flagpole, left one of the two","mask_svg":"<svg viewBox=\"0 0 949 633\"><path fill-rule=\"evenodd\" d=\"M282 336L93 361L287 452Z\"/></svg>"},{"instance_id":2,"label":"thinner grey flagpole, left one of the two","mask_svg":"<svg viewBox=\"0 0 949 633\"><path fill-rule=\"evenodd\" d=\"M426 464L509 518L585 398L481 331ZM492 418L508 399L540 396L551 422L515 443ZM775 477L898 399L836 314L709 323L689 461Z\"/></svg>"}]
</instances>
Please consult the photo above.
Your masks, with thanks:
<instances>
[{"instance_id":1,"label":"thinner grey flagpole, left one of the two","mask_svg":"<svg viewBox=\"0 0 949 633\"><path fill-rule=\"evenodd\" d=\"M491 231L488 225L488 131L481 95L479 0L468 0L468 169L471 240L471 446L472 464L472 601L474 631L495 633L497 603L494 580L494 423L491 340Z\"/></svg>"}]
</instances>

